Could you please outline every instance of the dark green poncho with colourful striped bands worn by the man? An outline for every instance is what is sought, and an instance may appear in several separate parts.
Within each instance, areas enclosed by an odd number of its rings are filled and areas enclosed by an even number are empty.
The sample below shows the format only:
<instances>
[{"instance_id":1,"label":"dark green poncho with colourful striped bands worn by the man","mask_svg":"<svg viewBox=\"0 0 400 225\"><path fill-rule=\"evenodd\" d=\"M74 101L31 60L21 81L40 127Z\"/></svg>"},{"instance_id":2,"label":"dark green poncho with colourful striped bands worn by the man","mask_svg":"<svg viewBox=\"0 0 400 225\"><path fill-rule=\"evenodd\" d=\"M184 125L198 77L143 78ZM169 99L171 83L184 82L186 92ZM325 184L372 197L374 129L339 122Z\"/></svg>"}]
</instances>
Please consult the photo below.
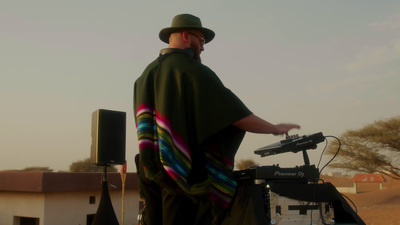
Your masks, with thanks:
<instances>
[{"instance_id":1,"label":"dark green poncho with colourful striped bands worn by the man","mask_svg":"<svg viewBox=\"0 0 400 225\"><path fill-rule=\"evenodd\" d=\"M192 50L164 49L137 79L134 111L146 177L171 192L210 195L226 208L245 132L232 123L251 114Z\"/></svg>"}]
</instances>

